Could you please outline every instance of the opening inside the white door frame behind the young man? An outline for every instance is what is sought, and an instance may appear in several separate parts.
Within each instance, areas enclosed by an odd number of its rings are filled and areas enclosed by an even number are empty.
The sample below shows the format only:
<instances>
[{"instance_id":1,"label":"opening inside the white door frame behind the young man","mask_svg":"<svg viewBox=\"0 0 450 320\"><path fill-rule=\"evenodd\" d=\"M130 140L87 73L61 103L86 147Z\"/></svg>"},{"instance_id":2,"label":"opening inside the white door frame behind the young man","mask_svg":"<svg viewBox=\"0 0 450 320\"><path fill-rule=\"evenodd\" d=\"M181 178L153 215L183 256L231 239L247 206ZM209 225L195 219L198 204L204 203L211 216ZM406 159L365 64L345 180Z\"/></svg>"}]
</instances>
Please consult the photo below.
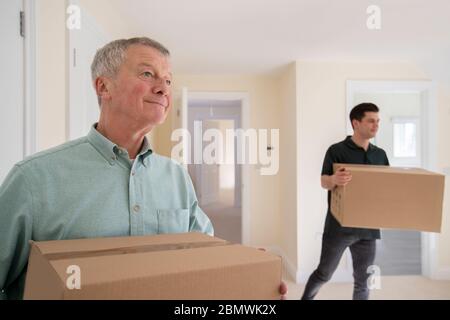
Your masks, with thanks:
<instances>
[{"instance_id":1,"label":"opening inside the white door frame behind the young man","mask_svg":"<svg viewBox=\"0 0 450 320\"><path fill-rule=\"evenodd\" d=\"M386 151L390 165L422 168L420 93L355 93L354 105L366 101L380 108L380 129L374 144ZM420 231L381 230L375 264L382 274L422 274L420 237Z\"/></svg>"}]
</instances>

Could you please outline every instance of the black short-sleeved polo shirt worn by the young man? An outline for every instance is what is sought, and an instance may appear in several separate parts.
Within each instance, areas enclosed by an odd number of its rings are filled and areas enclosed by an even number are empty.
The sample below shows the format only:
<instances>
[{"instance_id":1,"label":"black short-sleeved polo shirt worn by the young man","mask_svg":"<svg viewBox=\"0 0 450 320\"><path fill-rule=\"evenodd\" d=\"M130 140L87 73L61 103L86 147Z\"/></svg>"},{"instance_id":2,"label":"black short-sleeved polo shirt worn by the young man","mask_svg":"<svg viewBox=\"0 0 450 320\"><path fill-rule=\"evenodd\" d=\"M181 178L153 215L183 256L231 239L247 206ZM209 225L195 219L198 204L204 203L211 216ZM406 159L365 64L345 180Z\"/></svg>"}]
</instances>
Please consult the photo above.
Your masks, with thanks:
<instances>
[{"instance_id":1,"label":"black short-sleeved polo shirt worn by the young man","mask_svg":"<svg viewBox=\"0 0 450 320\"><path fill-rule=\"evenodd\" d=\"M386 152L369 144L365 151L356 145L351 136L328 148L323 160L322 175L333 174L333 163L389 165ZM328 191L328 210L325 220L324 235L328 237L354 236L359 239L380 239L380 230L342 227L330 211L331 191ZM363 210L363 208L361 208Z\"/></svg>"}]
</instances>

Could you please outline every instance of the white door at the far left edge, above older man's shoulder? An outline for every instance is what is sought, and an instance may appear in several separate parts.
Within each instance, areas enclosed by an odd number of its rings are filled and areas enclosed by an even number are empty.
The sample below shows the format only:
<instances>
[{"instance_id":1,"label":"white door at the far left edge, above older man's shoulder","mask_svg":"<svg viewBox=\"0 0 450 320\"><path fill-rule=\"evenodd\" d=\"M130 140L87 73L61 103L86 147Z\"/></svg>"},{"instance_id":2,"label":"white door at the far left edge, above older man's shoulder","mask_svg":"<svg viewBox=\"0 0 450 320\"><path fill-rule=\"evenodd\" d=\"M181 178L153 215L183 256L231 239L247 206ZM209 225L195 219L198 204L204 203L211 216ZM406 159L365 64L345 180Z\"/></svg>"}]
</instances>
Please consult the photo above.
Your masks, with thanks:
<instances>
[{"instance_id":1,"label":"white door at the far left edge, above older man's shoulder","mask_svg":"<svg viewBox=\"0 0 450 320\"><path fill-rule=\"evenodd\" d=\"M0 184L24 156L24 38L22 0L0 1Z\"/></svg>"}]
</instances>

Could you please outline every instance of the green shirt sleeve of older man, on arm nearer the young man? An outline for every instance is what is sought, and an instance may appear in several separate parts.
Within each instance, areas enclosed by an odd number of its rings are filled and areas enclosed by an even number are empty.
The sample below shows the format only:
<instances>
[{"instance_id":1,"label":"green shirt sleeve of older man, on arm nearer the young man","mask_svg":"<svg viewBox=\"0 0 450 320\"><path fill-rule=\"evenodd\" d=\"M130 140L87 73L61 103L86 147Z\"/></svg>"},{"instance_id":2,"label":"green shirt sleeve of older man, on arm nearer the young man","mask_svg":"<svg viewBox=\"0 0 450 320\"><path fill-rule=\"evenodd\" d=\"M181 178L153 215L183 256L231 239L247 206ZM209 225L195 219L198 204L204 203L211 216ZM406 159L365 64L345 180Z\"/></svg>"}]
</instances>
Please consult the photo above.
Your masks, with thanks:
<instances>
[{"instance_id":1,"label":"green shirt sleeve of older man, on arm nearer the young man","mask_svg":"<svg viewBox=\"0 0 450 320\"><path fill-rule=\"evenodd\" d=\"M195 194L194 185L191 177L186 170L183 169L186 183L188 186L188 198L190 201L189 208L189 231L198 231L202 233L214 235L214 228L205 212L198 206L197 196Z\"/></svg>"}]
</instances>

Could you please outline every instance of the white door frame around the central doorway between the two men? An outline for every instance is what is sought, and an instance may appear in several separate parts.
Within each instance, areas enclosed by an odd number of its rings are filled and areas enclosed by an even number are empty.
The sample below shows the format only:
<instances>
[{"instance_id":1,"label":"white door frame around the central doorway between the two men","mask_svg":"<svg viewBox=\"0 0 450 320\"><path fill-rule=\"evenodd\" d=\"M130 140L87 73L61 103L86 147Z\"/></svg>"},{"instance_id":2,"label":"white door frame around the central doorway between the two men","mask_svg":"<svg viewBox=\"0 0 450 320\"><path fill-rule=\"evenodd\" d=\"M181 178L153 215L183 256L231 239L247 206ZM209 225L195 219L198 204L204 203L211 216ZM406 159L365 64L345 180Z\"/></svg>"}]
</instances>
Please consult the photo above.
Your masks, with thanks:
<instances>
[{"instance_id":1,"label":"white door frame around the central doorway between the two men","mask_svg":"<svg viewBox=\"0 0 450 320\"><path fill-rule=\"evenodd\" d=\"M181 103L181 127L184 130L188 129L188 112L189 101L192 100L240 100L241 101L241 127L243 130L249 128L250 120L250 98L247 92L220 92L220 91L188 91L186 87L182 88L182 103ZM183 139L185 141L185 139ZM187 150L187 144L184 145L184 150ZM242 244L250 244L250 167L249 164L241 165L241 219L242 230L241 239Z\"/></svg>"}]
</instances>

